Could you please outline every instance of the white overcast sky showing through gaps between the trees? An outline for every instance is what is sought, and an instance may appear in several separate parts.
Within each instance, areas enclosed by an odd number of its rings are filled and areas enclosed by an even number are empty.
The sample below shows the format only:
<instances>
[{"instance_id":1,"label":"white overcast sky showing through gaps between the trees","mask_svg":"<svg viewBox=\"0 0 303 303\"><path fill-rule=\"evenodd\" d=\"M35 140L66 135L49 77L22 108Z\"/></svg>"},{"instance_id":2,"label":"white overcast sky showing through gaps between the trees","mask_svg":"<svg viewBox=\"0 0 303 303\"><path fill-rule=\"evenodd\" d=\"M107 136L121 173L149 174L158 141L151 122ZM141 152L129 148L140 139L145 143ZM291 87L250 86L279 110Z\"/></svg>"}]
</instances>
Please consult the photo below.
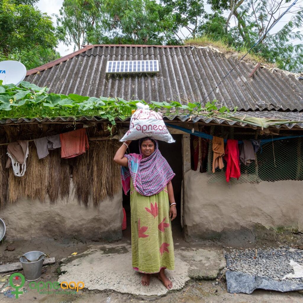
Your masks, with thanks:
<instances>
[{"instance_id":1,"label":"white overcast sky showing through gaps between the trees","mask_svg":"<svg viewBox=\"0 0 303 303\"><path fill-rule=\"evenodd\" d=\"M59 9L61 8L62 3L63 3L63 0L52 0L52 1L39 0L39 2L36 5L38 6L38 9L41 12L45 12L49 16L51 16L54 25L56 25L56 17L54 17L53 14L57 14L57 15L59 14ZM303 0L298 1L297 4L295 5L296 7L293 7L291 9L291 11L296 10L298 8L298 6L302 5L302 4L303 4ZM205 5L205 9L206 9L206 11L210 12L209 5ZM285 7L282 8L280 10L280 12L278 12L278 13L281 14L282 12L285 11L285 9L286 9ZM226 12L224 15L225 15L225 17L227 17L228 12ZM275 25L275 27L271 29L270 33L275 33L278 30L280 30L285 25L285 23L288 22L288 20L291 18L291 16L292 16L292 14L286 14L283 18L281 18L281 20ZM234 24L235 23L234 23L233 19L231 19L231 25L234 25ZM187 35L186 32L184 32L184 33L185 33L185 35ZM298 43L299 43L299 41L295 41L295 44L298 44ZM60 53L61 56L65 56L74 51L74 45L66 46L63 43L60 43L58 45L58 47L56 48L56 50Z\"/></svg>"}]
</instances>

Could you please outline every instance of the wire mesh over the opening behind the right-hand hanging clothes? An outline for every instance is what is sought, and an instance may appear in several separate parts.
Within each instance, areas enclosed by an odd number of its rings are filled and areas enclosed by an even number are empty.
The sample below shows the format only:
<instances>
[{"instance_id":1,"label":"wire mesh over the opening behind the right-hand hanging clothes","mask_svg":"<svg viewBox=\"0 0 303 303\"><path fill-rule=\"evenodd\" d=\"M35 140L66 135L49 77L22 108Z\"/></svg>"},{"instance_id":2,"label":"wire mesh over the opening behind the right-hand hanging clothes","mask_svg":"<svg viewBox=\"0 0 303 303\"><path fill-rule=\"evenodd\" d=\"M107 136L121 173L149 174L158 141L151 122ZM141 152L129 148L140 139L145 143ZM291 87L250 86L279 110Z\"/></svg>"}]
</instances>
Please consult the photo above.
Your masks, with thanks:
<instances>
[{"instance_id":1,"label":"wire mesh over the opening behind the right-hand hanging clothes","mask_svg":"<svg viewBox=\"0 0 303 303\"><path fill-rule=\"evenodd\" d=\"M220 136L220 134L215 135ZM294 133L292 135L297 135ZM254 133L238 133L233 135L236 140L249 140L249 139L269 139L281 137L275 135L256 135ZM226 135L225 135L226 137ZM209 142L212 146L212 141ZM208 145L208 146L209 146ZM226 182L225 167L223 169L216 169L212 173L213 152L208 148L208 165L206 174L208 175L208 183ZM260 181L279 181L279 180L303 180L303 140L301 138L288 138L283 140L276 140L261 145L261 148L256 153L256 160L248 166L242 162L240 165L241 176L239 180L231 178L231 183L259 183ZM208 167L210 166L210 167Z\"/></svg>"}]
</instances>

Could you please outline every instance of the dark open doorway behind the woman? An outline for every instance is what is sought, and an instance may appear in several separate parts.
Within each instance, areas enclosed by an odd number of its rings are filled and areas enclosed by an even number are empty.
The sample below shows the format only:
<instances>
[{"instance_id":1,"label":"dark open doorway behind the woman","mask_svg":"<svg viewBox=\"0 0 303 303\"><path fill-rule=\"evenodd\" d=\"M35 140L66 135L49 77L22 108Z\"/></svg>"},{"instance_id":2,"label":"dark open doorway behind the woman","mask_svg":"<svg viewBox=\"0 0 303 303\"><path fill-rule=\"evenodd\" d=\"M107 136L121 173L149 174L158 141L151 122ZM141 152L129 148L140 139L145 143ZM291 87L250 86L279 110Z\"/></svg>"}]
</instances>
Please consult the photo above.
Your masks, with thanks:
<instances>
[{"instance_id":1,"label":"dark open doorway behind the woman","mask_svg":"<svg viewBox=\"0 0 303 303\"><path fill-rule=\"evenodd\" d=\"M159 150L162 156L167 160L168 164L171 166L172 170L176 174L171 180L174 189L175 201L177 203L177 217L172 221L173 233L178 232L181 234L181 185L182 185L182 135L172 135L175 139L175 143L166 143L158 141ZM139 140L133 141L129 146L129 153L139 154ZM127 239L131 239L131 212L130 212L130 197L129 193L127 195L123 192L123 207L126 212L127 229L123 231L123 236Z\"/></svg>"}]
</instances>

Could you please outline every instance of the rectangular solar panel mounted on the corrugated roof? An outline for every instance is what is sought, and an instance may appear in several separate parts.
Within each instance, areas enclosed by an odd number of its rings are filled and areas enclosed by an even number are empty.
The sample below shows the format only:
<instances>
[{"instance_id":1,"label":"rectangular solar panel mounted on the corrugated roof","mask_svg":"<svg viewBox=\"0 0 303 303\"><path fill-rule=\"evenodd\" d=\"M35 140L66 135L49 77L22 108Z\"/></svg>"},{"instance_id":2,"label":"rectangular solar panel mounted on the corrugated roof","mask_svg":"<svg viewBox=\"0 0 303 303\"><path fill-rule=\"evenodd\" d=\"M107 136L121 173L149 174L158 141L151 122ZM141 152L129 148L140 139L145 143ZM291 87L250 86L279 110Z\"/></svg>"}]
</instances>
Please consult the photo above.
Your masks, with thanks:
<instances>
[{"instance_id":1,"label":"rectangular solar panel mounted on the corrugated roof","mask_svg":"<svg viewBox=\"0 0 303 303\"><path fill-rule=\"evenodd\" d=\"M107 74L156 72L159 72L159 60L108 61L106 65Z\"/></svg>"}]
</instances>

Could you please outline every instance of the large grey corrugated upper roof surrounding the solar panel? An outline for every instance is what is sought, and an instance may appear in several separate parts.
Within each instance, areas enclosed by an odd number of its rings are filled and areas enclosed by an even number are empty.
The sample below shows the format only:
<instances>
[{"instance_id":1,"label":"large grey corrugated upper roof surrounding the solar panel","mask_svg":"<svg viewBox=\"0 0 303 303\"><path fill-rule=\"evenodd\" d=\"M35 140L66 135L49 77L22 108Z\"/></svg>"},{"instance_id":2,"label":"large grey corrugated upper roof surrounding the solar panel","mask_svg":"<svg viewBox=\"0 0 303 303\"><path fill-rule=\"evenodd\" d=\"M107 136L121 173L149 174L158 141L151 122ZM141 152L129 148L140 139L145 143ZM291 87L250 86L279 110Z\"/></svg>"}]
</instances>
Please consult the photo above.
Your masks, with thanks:
<instances>
[{"instance_id":1,"label":"large grey corrugated upper roof surrounding the solar panel","mask_svg":"<svg viewBox=\"0 0 303 303\"><path fill-rule=\"evenodd\" d=\"M108 60L159 60L155 75L106 75ZM28 71L26 81L51 92L145 101L200 102L234 67L237 59L191 46L89 45ZM303 110L303 80L241 61L205 100L238 110ZM204 103L205 103L204 102Z\"/></svg>"}]
</instances>

